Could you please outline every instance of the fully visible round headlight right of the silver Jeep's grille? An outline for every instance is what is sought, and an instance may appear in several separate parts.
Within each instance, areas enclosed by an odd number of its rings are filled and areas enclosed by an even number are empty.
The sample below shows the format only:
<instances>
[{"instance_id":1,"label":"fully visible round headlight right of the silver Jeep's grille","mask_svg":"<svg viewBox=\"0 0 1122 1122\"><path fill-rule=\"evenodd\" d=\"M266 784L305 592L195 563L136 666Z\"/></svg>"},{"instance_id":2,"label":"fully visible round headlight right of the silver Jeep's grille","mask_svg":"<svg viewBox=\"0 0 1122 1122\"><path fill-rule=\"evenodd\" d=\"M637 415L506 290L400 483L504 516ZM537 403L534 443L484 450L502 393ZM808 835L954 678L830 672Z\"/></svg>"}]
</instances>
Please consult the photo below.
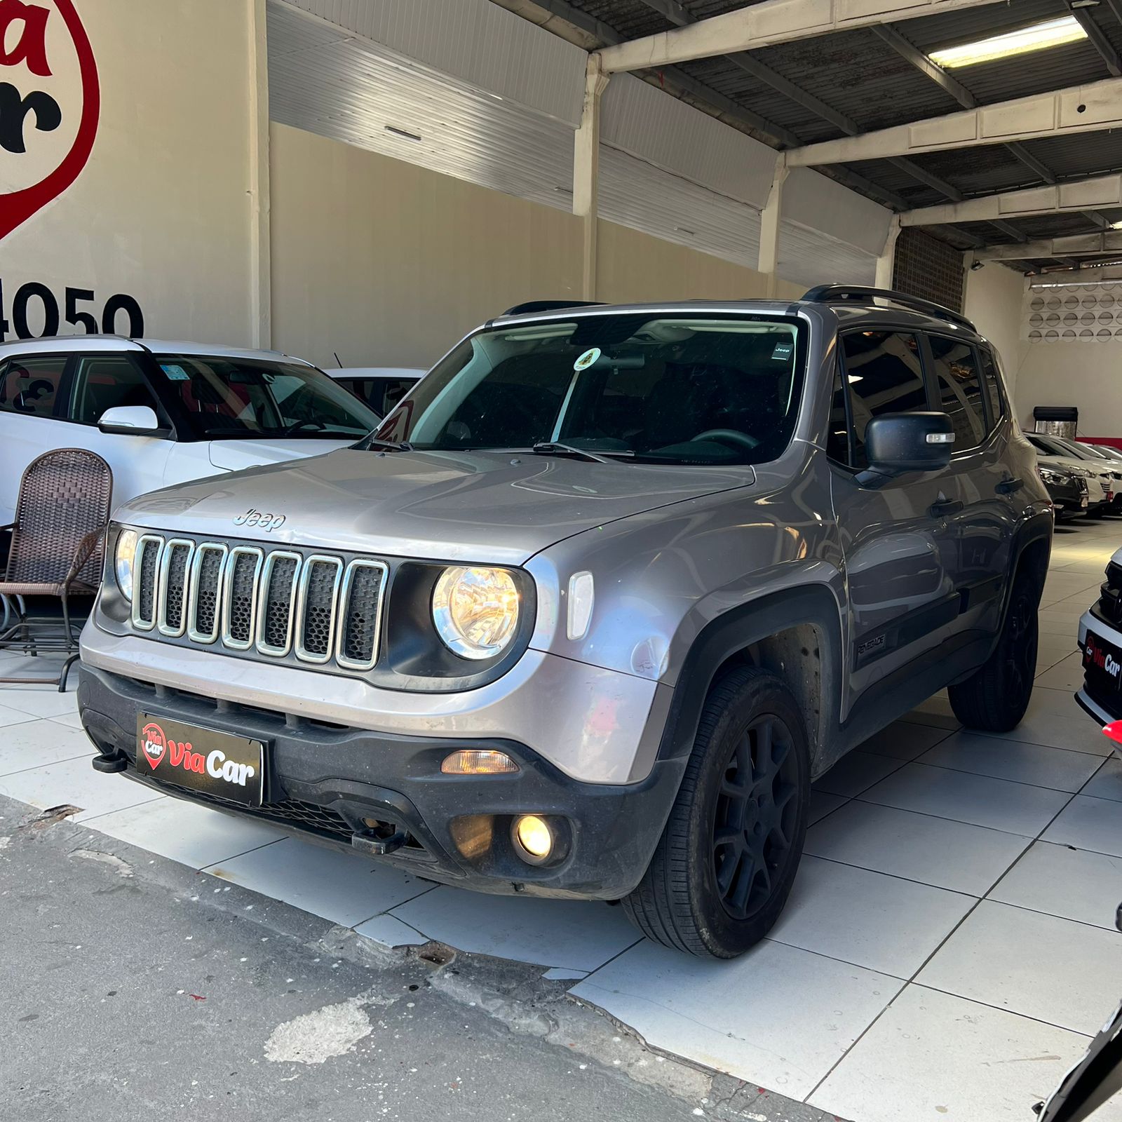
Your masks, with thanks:
<instances>
[{"instance_id":1,"label":"fully visible round headlight right of the silver Jeep's grille","mask_svg":"<svg viewBox=\"0 0 1122 1122\"><path fill-rule=\"evenodd\" d=\"M445 569L432 594L432 620L450 651L463 659L494 659L518 626L514 578L505 569Z\"/></svg>"}]
</instances>

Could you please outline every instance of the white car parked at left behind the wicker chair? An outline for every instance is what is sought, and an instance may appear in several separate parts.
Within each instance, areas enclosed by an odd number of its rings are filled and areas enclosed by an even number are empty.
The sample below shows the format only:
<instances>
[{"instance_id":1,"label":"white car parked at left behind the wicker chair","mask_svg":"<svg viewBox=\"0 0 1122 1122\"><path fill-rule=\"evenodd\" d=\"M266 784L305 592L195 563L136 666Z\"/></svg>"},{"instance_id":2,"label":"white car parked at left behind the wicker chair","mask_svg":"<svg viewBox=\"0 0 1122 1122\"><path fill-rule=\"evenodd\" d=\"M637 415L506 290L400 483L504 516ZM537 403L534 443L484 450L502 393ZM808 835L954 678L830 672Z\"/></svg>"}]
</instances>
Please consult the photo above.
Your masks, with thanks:
<instances>
[{"instance_id":1,"label":"white car parked at left behind the wicker chair","mask_svg":"<svg viewBox=\"0 0 1122 1122\"><path fill-rule=\"evenodd\" d=\"M86 448L113 505L146 491L352 444L379 417L322 370L276 351L112 335L0 344L0 525L27 466Z\"/></svg>"}]
</instances>

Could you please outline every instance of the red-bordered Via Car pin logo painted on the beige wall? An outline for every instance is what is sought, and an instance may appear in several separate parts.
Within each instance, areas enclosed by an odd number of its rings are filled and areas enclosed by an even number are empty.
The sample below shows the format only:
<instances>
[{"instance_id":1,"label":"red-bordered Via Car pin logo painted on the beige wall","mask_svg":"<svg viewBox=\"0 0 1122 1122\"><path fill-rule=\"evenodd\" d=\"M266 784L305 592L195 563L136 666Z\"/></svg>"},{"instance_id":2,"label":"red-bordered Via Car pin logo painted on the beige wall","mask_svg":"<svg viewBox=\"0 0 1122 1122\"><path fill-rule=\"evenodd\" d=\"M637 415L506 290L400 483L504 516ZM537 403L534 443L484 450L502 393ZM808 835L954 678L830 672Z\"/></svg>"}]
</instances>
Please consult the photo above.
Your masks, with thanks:
<instances>
[{"instance_id":1,"label":"red-bordered Via Car pin logo painted on the beige wall","mask_svg":"<svg viewBox=\"0 0 1122 1122\"><path fill-rule=\"evenodd\" d=\"M0 0L0 239L82 174L100 116L74 0Z\"/></svg>"}]
</instances>

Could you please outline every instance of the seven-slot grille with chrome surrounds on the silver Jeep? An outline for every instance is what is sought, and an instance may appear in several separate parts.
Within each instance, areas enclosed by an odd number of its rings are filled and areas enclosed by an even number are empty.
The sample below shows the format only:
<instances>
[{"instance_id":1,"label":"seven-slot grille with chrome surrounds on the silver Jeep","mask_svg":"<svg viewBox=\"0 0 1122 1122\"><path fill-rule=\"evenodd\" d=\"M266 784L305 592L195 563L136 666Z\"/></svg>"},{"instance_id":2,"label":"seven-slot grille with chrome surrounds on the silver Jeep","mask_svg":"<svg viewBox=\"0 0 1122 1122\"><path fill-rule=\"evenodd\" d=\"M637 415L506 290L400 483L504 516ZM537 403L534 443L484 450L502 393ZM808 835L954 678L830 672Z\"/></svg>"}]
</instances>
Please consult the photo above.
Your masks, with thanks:
<instances>
[{"instance_id":1,"label":"seven-slot grille with chrome surrounds on the silver Jeep","mask_svg":"<svg viewBox=\"0 0 1122 1122\"><path fill-rule=\"evenodd\" d=\"M385 562L147 534L132 624L166 638L315 665L378 661ZM154 634L155 637L155 634Z\"/></svg>"}]
</instances>

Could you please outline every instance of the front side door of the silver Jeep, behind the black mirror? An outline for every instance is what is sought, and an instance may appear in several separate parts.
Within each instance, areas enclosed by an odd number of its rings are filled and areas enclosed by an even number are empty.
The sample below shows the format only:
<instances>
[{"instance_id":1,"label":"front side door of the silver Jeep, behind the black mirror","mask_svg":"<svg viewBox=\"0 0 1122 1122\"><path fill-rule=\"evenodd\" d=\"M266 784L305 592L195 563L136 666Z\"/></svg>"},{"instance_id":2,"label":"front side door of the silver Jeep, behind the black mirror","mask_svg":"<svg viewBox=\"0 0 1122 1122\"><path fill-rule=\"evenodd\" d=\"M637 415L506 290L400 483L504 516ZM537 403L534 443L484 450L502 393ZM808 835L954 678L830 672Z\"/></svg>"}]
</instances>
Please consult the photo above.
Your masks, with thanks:
<instances>
[{"instance_id":1,"label":"front side door of the silver Jeep, behind the black mirror","mask_svg":"<svg viewBox=\"0 0 1122 1122\"><path fill-rule=\"evenodd\" d=\"M918 332L842 334L828 454L848 592L850 705L957 627L958 527L944 509L954 502L946 472L909 472L880 487L858 480L868 422L930 407Z\"/></svg>"}]
</instances>

